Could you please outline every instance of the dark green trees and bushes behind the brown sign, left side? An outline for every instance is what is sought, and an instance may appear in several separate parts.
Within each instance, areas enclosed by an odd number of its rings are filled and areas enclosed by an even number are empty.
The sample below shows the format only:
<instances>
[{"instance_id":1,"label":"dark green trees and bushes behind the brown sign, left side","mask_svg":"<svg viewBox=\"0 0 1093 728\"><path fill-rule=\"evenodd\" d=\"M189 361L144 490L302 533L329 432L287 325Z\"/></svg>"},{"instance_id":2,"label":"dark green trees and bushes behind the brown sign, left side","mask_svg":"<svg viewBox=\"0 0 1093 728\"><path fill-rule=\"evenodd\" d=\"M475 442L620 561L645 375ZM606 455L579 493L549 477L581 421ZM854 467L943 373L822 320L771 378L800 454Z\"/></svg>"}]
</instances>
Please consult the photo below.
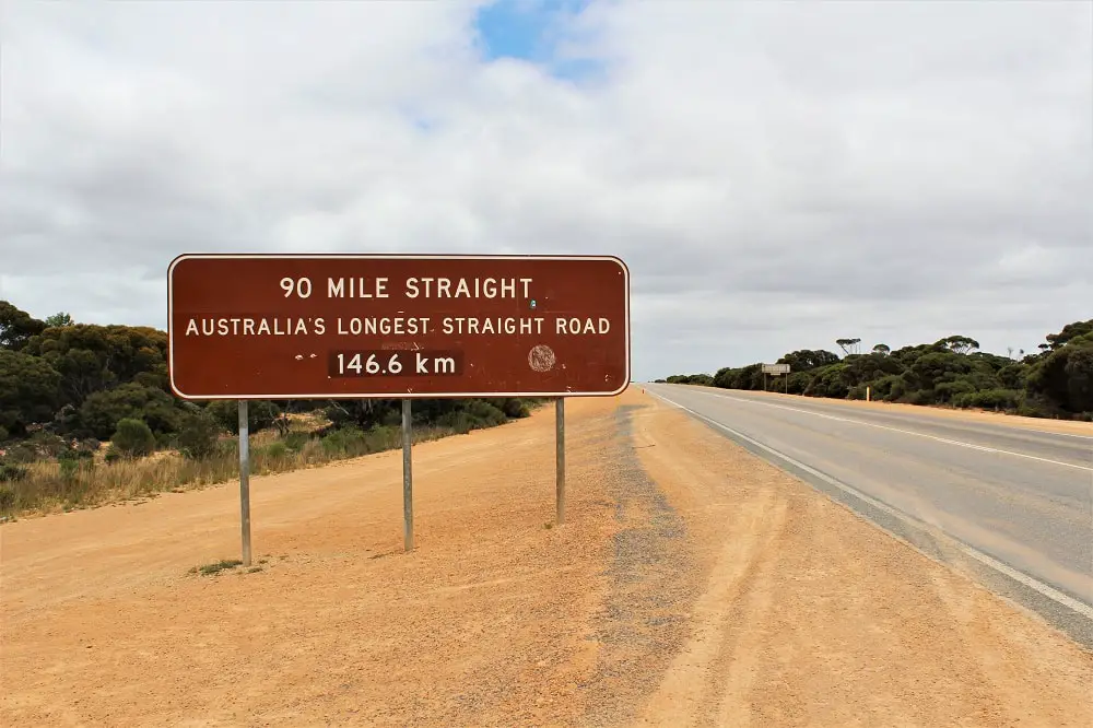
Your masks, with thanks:
<instances>
[{"instance_id":1,"label":"dark green trees and bushes behind the brown sign, left side","mask_svg":"<svg viewBox=\"0 0 1093 728\"><path fill-rule=\"evenodd\" d=\"M529 414L527 399L416 400L414 424L468 432ZM368 431L401 422L390 400L250 401L251 432L287 433L293 413L316 412L334 430ZM0 301L0 448L58 438L75 449L109 441L117 455L175 448L211 453L237 434L235 401L185 401L171 391L167 334L151 327L79 324L67 313L39 320ZM43 435L50 437L45 438ZM51 454L55 455L56 454Z\"/></svg>"}]
</instances>

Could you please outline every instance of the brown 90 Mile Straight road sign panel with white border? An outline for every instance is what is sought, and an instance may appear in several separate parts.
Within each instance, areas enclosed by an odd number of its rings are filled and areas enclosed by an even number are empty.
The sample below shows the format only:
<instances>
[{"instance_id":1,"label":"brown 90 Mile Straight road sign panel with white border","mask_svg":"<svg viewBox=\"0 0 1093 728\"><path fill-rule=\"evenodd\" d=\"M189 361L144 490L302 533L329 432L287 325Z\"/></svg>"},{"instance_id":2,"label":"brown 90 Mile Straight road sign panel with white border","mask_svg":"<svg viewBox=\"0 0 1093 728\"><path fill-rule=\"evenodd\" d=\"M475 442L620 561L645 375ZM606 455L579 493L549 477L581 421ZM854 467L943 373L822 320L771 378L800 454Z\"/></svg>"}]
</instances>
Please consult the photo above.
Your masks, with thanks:
<instances>
[{"instance_id":1,"label":"brown 90 Mile Straight road sign panel with white border","mask_svg":"<svg viewBox=\"0 0 1093 728\"><path fill-rule=\"evenodd\" d=\"M184 255L186 399L580 397L630 384L630 272L595 256Z\"/></svg>"}]
</instances>

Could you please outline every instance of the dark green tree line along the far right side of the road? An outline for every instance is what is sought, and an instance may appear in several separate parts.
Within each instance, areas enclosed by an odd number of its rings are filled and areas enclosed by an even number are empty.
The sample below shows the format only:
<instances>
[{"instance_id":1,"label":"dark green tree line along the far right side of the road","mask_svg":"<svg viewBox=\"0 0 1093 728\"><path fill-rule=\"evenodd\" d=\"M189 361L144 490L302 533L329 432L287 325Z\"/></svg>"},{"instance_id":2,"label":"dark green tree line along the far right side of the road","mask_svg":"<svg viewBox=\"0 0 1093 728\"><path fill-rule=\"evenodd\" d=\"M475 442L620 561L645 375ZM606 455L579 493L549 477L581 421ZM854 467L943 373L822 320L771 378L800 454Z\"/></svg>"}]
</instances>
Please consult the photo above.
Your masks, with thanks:
<instances>
[{"instance_id":1,"label":"dark green tree line along the far right side of the road","mask_svg":"<svg viewBox=\"0 0 1093 728\"><path fill-rule=\"evenodd\" d=\"M1006 356L960 334L894 351L879 343L866 353L860 338L835 343L842 355L801 349L780 357L776 363L790 366L788 380L775 383L756 363L658 381L835 399L866 399L868 388L872 399L890 402L1093 421L1093 319L1047 334L1035 352L1010 349Z\"/></svg>"}]
</instances>

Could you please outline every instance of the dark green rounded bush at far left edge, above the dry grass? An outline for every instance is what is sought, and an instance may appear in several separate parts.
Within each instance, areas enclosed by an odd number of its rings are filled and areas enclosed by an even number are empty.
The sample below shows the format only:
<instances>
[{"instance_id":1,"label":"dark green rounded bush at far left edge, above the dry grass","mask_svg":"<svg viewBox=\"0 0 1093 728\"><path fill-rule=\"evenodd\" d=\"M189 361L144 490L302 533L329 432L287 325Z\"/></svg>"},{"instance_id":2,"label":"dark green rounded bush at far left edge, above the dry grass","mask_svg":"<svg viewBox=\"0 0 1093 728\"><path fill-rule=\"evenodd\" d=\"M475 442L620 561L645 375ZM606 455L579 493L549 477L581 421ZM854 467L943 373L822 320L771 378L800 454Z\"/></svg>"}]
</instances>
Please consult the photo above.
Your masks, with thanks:
<instances>
[{"instance_id":1,"label":"dark green rounded bush at far left edge, above the dry grass","mask_svg":"<svg viewBox=\"0 0 1093 728\"><path fill-rule=\"evenodd\" d=\"M27 425L52 420L61 398L60 379L37 356L0 349L0 427L19 437Z\"/></svg>"}]
</instances>

